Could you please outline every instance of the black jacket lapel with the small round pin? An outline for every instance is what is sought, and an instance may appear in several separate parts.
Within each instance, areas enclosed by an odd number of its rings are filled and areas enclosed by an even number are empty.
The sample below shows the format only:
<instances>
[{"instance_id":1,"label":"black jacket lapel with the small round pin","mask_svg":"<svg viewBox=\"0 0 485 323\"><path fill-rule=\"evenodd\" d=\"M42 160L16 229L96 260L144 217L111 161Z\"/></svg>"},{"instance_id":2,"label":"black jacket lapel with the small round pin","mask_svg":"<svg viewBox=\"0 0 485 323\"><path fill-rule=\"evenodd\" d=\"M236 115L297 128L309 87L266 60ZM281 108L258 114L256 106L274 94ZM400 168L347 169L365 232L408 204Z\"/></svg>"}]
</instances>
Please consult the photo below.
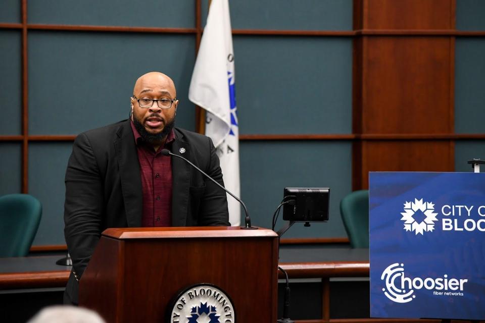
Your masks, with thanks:
<instances>
[{"instance_id":1,"label":"black jacket lapel with the small round pin","mask_svg":"<svg viewBox=\"0 0 485 323\"><path fill-rule=\"evenodd\" d=\"M172 152L190 159L190 145L185 142L178 131ZM183 149L182 149L183 148ZM183 151L183 153L181 153ZM184 227L187 220L188 196L190 187L190 165L186 161L171 156L172 160L172 227Z\"/></svg>"}]
</instances>

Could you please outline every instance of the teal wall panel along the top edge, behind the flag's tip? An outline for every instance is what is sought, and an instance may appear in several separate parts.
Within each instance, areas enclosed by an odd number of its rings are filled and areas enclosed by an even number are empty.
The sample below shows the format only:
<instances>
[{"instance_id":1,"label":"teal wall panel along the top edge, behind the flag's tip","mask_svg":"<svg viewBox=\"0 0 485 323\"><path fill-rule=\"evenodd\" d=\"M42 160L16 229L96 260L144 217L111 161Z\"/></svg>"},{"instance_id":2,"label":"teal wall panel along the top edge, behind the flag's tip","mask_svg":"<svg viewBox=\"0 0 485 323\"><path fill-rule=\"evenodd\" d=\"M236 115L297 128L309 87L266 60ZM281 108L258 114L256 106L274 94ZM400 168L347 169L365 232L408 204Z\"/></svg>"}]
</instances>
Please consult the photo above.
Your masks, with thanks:
<instances>
[{"instance_id":1,"label":"teal wall panel along the top edge, behind the flag's tip","mask_svg":"<svg viewBox=\"0 0 485 323\"><path fill-rule=\"evenodd\" d=\"M352 0L231 0L234 29L352 30ZM202 0L202 26L208 1Z\"/></svg>"}]
</instances>

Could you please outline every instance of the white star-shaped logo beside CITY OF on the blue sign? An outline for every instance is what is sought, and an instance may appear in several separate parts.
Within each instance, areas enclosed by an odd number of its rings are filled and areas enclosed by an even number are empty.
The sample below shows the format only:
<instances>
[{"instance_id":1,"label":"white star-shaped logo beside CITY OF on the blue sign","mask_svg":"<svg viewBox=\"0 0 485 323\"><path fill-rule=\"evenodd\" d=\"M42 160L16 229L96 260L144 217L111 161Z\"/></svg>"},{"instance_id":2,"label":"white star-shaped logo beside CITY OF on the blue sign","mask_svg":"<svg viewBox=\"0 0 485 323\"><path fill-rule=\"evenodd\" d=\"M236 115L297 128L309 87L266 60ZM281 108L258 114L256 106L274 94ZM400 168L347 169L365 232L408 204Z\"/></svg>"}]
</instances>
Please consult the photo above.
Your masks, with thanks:
<instances>
[{"instance_id":1,"label":"white star-shaped logo beside CITY OF on the blue sign","mask_svg":"<svg viewBox=\"0 0 485 323\"><path fill-rule=\"evenodd\" d=\"M418 200L417 198L414 199L414 202L406 202L404 203L404 212L401 212L402 218L401 220L404 221L404 230L406 231L414 231L416 235L420 233L421 235L424 232L431 232L434 230L434 222L437 222L438 219L436 216L438 213L434 212L434 204L429 202L423 202L423 199ZM424 220L418 222L415 219L421 214L421 217L424 217Z\"/></svg>"}]
</instances>

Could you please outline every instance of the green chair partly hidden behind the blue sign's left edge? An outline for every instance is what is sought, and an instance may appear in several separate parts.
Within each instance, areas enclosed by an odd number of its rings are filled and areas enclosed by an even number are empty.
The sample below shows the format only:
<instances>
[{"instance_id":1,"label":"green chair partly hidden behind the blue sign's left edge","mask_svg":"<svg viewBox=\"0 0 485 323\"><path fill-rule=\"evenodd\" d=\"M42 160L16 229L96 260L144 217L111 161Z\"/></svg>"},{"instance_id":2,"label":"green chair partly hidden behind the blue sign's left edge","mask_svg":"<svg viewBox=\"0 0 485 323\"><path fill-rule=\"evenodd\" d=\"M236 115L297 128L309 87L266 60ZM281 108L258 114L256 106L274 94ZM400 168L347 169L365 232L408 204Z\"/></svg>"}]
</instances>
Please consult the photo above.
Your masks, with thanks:
<instances>
[{"instance_id":1,"label":"green chair partly hidden behind the blue sign's left edge","mask_svg":"<svg viewBox=\"0 0 485 323\"><path fill-rule=\"evenodd\" d=\"M369 191L355 191L344 197L340 213L352 248L369 248Z\"/></svg>"}]
</instances>

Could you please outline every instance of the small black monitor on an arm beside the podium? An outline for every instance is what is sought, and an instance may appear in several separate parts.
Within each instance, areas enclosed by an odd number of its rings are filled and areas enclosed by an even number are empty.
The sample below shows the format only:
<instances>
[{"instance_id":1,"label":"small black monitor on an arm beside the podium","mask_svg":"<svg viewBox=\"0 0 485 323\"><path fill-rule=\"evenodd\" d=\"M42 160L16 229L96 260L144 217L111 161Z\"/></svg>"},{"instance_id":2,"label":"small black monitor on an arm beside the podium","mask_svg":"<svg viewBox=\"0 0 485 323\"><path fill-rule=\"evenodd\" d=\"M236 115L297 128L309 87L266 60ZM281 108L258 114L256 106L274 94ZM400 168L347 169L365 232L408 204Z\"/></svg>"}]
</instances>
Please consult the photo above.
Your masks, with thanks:
<instances>
[{"instance_id":1,"label":"small black monitor on an arm beside the podium","mask_svg":"<svg viewBox=\"0 0 485 323\"><path fill-rule=\"evenodd\" d=\"M329 188L286 187L283 202L283 220L293 222L328 221Z\"/></svg>"}]
</instances>

